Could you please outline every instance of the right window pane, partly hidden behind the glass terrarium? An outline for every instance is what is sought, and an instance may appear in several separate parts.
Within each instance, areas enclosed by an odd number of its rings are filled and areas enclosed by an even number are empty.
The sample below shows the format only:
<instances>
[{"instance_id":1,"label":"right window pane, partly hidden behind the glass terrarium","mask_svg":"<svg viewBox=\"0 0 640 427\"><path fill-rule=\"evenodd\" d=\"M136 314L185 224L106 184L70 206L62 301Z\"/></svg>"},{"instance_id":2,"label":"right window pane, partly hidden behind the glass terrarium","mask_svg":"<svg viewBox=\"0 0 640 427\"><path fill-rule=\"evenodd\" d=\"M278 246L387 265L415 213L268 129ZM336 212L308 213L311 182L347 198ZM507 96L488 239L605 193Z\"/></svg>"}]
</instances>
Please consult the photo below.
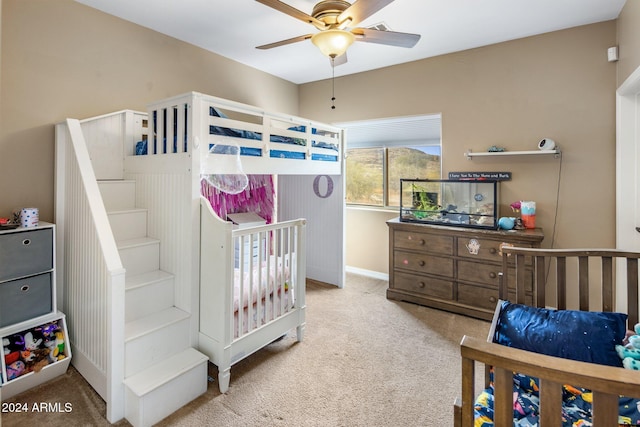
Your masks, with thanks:
<instances>
[{"instance_id":1,"label":"right window pane, partly hidden behind the glass terrarium","mask_svg":"<svg viewBox=\"0 0 640 427\"><path fill-rule=\"evenodd\" d=\"M440 146L393 147L388 150L389 206L400 206L400 179L440 179Z\"/></svg>"}]
</instances>

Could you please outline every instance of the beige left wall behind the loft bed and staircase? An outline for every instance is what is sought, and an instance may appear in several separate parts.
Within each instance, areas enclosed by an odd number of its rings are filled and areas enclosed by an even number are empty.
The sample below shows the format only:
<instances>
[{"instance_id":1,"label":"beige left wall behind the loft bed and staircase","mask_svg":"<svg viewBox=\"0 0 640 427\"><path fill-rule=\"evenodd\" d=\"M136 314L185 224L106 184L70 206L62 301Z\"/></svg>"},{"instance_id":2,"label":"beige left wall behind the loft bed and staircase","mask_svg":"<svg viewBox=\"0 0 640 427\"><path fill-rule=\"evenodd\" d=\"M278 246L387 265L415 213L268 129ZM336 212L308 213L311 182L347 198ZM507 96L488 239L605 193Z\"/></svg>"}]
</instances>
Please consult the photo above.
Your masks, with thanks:
<instances>
[{"instance_id":1,"label":"beige left wall behind the loft bed and staircase","mask_svg":"<svg viewBox=\"0 0 640 427\"><path fill-rule=\"evenodd\" d=\"M3 0L0 216L53 220L54 124L199 91L298 114L298 87L73 0Z\"/></svg>"}]
</instances>

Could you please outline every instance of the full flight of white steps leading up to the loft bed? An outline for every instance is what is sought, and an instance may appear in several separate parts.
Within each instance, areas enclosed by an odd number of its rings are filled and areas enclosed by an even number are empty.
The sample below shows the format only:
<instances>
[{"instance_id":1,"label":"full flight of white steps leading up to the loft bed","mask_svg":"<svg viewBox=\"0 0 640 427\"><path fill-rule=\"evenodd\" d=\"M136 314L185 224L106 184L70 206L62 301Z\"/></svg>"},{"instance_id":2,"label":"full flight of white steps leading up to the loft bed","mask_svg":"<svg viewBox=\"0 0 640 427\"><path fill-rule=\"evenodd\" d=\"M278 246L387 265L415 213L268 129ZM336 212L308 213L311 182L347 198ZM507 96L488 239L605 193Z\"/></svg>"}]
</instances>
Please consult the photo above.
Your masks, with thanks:
<instances>
[{"instance_id":1,"label":"full flight of white steps leading up to the loft bed","mask_svg":"<svg viewBox=\"0 0 640 427\"><path fill-rule=\"evenodd\" d=\"M174 276L160 269L162 242L147 236L135 182L98 184L126 269L125 418L150 426L206 391L208 358L190 346L190 314L174 306Z\"/></svg>"}]
</instances>

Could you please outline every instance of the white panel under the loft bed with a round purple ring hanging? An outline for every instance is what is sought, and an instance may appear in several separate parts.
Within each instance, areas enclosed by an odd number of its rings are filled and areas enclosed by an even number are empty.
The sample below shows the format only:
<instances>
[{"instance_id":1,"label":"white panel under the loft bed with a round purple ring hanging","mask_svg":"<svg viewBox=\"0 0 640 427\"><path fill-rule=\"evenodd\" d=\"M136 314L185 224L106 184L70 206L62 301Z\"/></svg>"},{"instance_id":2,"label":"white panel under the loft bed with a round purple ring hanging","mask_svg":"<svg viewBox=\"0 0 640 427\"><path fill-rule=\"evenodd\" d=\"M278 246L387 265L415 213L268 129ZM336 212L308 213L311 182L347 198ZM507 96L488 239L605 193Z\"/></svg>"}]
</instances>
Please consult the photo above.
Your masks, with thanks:
<instances>
[{"instance_id":1,"label":"white panel under the loft bed with a round purple ring hanging","mask_svg":"<svg viewBox=\"0 0 640 427\"><path fill-rule=\"evenodd\" d=\"M343 175L279 175L278 221L307 219L307 277L344 285Z\"/></svg>"}]
</instances>

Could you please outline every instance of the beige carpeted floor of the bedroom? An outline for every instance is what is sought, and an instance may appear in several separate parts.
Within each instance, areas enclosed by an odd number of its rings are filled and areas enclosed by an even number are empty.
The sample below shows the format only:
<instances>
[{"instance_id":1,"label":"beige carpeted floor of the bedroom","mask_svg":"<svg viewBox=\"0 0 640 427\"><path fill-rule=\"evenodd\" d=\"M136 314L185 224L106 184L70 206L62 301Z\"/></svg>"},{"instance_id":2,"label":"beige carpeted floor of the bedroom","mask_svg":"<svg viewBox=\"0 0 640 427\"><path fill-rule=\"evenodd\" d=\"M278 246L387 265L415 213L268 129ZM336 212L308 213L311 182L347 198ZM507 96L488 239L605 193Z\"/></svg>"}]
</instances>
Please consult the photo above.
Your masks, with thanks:
<instances>
[{"instance_id":1,"label":"beige carpeted floor of the bedroom","mask_svg":"<svg viewBox=\"0 0 640 427\"><path fill-rule=\"evenodd\" d=\"M159 425L452 425L458 343L464 334L485 338L489 323L387 300L386 288L353 274L344 289L309 283L303 342L291 331L234 365L224 395L209 364L207 392ZM7 402L28 411L0 414L3 427L109 425L104 402L73 368ZM60 411L34 412L40 402L59 403Z\"/></svg>"}]
</instances>

